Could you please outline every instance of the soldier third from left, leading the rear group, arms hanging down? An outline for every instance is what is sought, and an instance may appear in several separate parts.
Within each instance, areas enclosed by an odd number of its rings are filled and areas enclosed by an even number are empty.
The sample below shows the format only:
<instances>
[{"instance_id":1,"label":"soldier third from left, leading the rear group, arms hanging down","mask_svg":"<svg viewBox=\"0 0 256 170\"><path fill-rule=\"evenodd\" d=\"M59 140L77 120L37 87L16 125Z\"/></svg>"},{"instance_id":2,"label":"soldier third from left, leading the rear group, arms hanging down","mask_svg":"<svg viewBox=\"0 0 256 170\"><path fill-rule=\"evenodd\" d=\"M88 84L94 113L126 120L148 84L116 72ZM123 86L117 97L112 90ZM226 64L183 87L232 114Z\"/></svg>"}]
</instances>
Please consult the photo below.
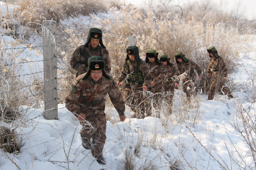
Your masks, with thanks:
<instances>
[{"instance_id":1,"label":"soldier third from left, leading the rear group, arms hanging down","mask_svg":"<svg viewBox=\"0 0 256 170\"><path fill-rule=\"evenodd\" d=\"M117 85L127 77L124 85L123 98L135 114L132 118L144 118L145 106L143 90L146 91L151 83L150 69L147 64L140 59L139 48L135 45L126 48L126 58L120 72Z\"/></svg>"}]
</instances>

